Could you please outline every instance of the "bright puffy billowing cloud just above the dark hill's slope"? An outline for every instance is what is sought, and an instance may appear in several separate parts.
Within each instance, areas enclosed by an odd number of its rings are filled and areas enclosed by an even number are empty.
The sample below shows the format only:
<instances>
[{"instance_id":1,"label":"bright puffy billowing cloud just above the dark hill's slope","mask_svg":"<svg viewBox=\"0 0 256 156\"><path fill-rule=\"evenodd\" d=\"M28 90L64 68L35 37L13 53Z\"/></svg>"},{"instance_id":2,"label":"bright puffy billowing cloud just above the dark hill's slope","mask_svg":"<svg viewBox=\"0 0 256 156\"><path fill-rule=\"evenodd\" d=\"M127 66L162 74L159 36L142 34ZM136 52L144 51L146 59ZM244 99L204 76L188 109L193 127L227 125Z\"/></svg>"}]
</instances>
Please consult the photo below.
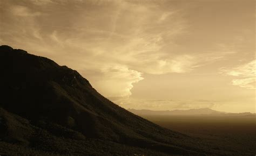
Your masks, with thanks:
<instances>
[{"instance_id":1,"label":"bright puffy billowing cloud just above the dark hill's slope","mask_svg":"<svg viewBox=\"0 0 256 156\"><path fill-rule=\"evenodd\" d=\"M133 83L144 79L142 73L123 65L106 65L100 70L93 69L91 73L86 70L85 73L90 77L93 86L98 88L99 93L107 97L129 97Z\"/></svg>"}]
</instances>

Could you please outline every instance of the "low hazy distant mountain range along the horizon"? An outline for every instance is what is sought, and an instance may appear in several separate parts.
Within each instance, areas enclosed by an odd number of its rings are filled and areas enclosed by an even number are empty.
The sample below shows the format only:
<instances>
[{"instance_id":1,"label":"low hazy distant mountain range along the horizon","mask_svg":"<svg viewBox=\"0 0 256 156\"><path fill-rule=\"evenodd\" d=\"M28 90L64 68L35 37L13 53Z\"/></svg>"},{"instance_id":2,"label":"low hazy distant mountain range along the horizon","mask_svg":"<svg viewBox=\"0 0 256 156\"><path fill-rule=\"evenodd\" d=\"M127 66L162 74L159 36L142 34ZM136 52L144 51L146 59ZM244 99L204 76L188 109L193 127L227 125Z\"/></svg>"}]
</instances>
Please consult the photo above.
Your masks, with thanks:
<instances>
[{"instance_id":1,"label":"low hazy distant mountain range along the horizon","mask_svg":"<svg viewBox=\"0 0 256 156\"><path fill-rule=\"evenodd\" d=\"M128 111L132 112L136 115L141 116L149 116L149 115L161 115L161 116L167 116L167 115L180 115L180 116L188 116L188 115L215 115L215 116L250 116L255 115L251 112L243 112L243 113L228 113L224 111L216 111L212 110L210 108L201 108L201 109L189 109L189 110L163 110L163 111L155 111L155 110L136 110L136 109L127 109Z\"/></svg>"}]
</instances>

